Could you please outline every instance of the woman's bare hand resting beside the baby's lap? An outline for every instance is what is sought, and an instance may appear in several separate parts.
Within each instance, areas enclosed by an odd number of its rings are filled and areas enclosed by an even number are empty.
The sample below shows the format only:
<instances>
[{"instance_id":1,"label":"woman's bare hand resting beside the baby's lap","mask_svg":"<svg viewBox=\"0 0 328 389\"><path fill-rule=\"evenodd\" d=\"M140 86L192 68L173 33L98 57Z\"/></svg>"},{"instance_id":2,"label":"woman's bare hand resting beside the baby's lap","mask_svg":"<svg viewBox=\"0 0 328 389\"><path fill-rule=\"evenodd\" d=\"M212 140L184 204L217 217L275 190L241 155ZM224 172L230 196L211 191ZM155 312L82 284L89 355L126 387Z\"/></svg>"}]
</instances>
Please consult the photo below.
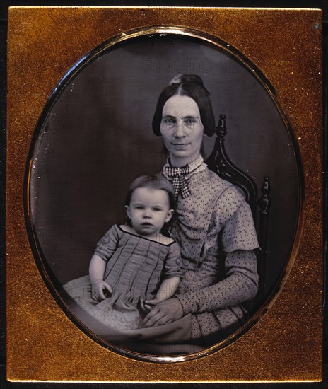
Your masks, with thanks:
<instances>
[{"instance_id":1,"label":"woman's bare hand resting beside the baby's lap","mask_svg":"<svg viewBox=\"0 0 328 389\"><path fill-rule=\"evenodd\" d=\"M154 306L151 312L144 318L143 323L145 327L170 324L183 316L182 306L177 298L169 298L160 302L155 299L146 300L145 303L149 306Z\"/></svg>"}]
</instances>

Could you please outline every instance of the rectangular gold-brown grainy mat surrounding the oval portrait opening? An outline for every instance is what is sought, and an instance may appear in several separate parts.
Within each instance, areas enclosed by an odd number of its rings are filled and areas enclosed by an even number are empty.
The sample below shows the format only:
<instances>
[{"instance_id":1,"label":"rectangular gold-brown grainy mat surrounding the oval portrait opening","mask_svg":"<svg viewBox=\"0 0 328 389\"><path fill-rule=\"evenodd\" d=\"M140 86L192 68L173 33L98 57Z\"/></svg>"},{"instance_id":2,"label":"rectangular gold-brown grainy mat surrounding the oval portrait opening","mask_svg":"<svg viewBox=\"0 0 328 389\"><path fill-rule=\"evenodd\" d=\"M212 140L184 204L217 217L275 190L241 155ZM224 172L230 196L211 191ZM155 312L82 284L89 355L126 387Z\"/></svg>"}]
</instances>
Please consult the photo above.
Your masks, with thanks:
<instances>
[{"instance_id":1,"label":"rectangular gold-brown grainy mat surrounding the oval portrait opening","mask_svg":"<svg viewBox=\"0 0 328 389\"><path fill-rule=\"evenodd\" d=\"M105 19L112 23L105 25ZM209 25L209 20L212 25ZM57 30L57 35L54 35L54 28L59 21L62 21L61 30ZM153 27L158 25L158 21L160 27ZM235 25L243 28L237 29ZM300 40L299 30L305 32L306 40ZM93 34L95 31L98 35ZM47 96L57 86L61 76L86 52L109 37L112 37L110 45L115 45L131 37L160 33L208 40L233 52L249 69L256 70L255 74L262 73L260 82L278 104L286 128L291 131L292 126L294 138L298 139L295 146L300 150L304 167L305 202L302 207L303 218L299 217L293 252L279 285L281 291L247 323L247 328L242 327L222 344L199 354L131 359L127 358L133 356L129 352L122 356L105 349L101 342L94 342L96 337L89 337L71 323L42 281L25 230L24 170L35 124ZM70 39L64 40L64 37ZM10 9L8 379L145 383L320 381L320 39L321 13L318 10L178 7ZM45 52L33 49L31 41ZM224 42L228 44L224 46ZM227 46L235 47L236 50ZM255 64L254 69L252 63ZM40 75L37 69L41 64L46 71ZM295 91L298 91L298 95L294 95ZM39 262L39 266L42 268L42 262ZM43 272L47 278L45 274ZM47 281L50 285L51 281ZM17 289L20 294L15 293ZM305 290L307 295L303 296ZM300 295L305 300L300 301ZM49 349L52 350L50 354ZM74 366L77 364L79 370L75 371ZM110 372L107 366L111 366Z\"/></svg>"}]
</instances>

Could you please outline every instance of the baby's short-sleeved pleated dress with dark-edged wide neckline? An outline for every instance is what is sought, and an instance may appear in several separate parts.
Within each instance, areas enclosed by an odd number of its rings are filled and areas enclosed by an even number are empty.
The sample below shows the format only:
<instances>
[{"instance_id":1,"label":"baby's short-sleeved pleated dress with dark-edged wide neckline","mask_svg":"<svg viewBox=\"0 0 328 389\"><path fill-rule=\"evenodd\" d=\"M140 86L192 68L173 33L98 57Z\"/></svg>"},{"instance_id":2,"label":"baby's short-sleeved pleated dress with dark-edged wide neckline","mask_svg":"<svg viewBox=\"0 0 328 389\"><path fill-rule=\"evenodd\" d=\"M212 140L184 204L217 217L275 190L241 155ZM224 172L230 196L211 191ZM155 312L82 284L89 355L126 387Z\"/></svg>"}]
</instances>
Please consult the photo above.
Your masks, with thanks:
<instances>
[{"instance_id":1,"label":"baby's short-sleeved pleated dress with dark-edged wide neckline","mask_svg":"<svg viewBox=\"0 0 328 389\"><path fill-rule=\"evenodd\" d=\"M141 327L141 299L154 298L163 279L181 277L177 243L165 245L117 225L105 233L95 254L107 262L104 281L112 287L112 294L95 301L89 276L69 281L64 290L93 318L116 330Z\"/></svg>"}]
</instances>

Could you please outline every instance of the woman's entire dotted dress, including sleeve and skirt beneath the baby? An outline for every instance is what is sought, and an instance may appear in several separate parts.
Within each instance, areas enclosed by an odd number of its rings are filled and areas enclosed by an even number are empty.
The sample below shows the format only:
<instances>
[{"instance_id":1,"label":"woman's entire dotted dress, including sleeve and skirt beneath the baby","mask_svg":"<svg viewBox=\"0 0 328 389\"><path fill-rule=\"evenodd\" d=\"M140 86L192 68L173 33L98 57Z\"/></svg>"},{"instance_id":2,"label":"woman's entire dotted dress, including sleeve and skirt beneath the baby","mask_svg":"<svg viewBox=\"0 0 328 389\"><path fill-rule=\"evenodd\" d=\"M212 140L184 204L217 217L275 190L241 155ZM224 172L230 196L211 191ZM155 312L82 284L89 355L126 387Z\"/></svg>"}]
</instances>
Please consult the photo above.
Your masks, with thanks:
<instances>
[{"instance_id":1,"label":"woman's entire dotted dress, including sleeve and skirt beneath the baby","mask_svg":"<svg viewBox=\"0 0 328 389\"><path fill-rule=\"evenodd\" d=\"M93 332L112 344L149 354L197 352L225 339L245 322L243 303L252 300L258 288L255 250L259 245L250 207L239 190L211 172L202 159L189 166L191 173L185 180L190 194L177 197L170 226L172 238L180 245L182 276L175 298L184 315L170 324L121 327L117 332L112 323L97 327L76 311Z\"/></svg>"}]
</instances>

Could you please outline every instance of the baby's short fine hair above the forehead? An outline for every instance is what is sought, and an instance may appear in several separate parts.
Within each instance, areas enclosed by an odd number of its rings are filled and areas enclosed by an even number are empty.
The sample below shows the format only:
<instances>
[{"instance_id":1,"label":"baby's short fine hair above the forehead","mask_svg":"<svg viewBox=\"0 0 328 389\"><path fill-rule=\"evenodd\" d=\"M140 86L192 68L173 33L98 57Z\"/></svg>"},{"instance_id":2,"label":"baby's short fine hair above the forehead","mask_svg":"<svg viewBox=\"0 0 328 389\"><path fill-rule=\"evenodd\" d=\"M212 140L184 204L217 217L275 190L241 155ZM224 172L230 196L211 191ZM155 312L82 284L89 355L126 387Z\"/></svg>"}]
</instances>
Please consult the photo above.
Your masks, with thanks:
<instances>
[{"instance_id":1,"label":"baby's short fine hair above the forehead","mask_svg":"<svg viewBox=\"0 0 328 389\"><path fill-rule=\"evenodd\" d=\"M150 187L151 189L165 190L168 194L170 209L175 209L175 191L170 181L161 175L141 175L131 183L125 198L125 205L129 206L132 193L139 187Z\"/></svg>"}]
</instances>

